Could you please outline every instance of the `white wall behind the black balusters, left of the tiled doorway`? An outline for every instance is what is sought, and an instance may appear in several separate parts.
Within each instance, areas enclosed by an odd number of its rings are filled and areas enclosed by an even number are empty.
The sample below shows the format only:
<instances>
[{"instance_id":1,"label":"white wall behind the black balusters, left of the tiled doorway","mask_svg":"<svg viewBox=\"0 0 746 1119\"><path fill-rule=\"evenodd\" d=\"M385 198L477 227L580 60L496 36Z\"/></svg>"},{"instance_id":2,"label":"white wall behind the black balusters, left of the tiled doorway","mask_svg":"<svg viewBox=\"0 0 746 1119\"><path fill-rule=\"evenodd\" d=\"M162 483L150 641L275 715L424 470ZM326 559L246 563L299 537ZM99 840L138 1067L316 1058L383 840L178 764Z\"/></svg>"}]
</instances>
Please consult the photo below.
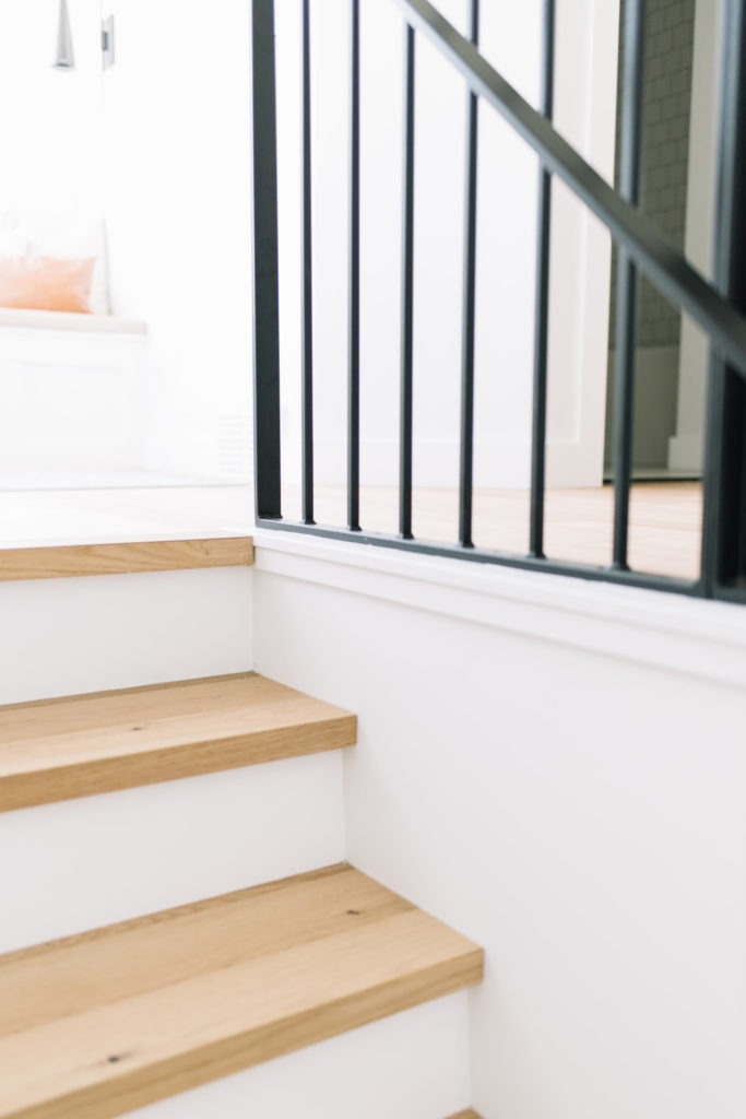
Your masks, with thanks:
<instances>
[{"instance_id":1,"label":"white wall behind the black balusters, left of the tiled doorway","mask_svg":"<svg viewBox=\"0 0 746 1119\"><path fill-rule=\"evenodd\" d=\"M346 455L347 4L312 6L315 450L320 482ZM465 0L440 10L466 30ZM536 102L540 3L482 6L481 49ZM398 463L403 20L366 0L361 15L361 470L395 483ZM300 6L277 4L281 360L284 467L300 476ZM613 177L617 0L560 0L556 121ZM415 482L455 485L461 366L465 83L417 39L415 172ZM526 485L533 360L538 164L488 106L480 119L476 485ZM556 190L553 236L549 479L601 481L610 241Z\"/></svg>"}]
</instances>

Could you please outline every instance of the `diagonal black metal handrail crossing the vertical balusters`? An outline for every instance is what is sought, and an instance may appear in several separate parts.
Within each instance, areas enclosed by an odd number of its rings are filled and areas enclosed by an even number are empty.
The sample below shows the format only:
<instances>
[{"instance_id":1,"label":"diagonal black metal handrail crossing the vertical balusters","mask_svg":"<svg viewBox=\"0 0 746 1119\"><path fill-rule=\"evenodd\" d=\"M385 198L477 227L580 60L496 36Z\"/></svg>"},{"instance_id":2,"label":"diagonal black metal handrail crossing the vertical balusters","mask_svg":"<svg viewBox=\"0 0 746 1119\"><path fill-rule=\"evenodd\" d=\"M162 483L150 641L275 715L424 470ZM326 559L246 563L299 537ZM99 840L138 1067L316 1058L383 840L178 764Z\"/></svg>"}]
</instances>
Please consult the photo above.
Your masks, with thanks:
<instances>
[{"instance_id":1,"label":"diagonal black metal handrail crossing the vertical balusters","mask_svg":"<svg viewBox=\"0 0 746 1119\"><path fill-rule=\"evenodd\" d=\"M662 237L655 227L611 187L464 38L429 0L395 0L409 23L418 27L538 153L545 167L606 225L638 267L710 336L746 379L746 317L723 299Z\"/></svg>"}]
</instances>

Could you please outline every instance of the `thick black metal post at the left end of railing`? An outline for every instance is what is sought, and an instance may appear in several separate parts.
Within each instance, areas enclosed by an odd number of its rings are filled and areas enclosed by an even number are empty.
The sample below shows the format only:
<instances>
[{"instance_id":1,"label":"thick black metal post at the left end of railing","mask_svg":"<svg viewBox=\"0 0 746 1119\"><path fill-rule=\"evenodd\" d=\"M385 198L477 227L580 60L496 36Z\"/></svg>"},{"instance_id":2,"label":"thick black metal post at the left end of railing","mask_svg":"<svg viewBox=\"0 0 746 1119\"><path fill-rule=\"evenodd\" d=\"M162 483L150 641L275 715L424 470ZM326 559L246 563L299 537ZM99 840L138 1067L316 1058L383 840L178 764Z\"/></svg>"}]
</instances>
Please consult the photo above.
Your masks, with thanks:
<instances>
[{"instance_id":1,"label":"thick black metal post at the left end of railing","mask_svg":"<svg viewBox=\"0 0 746 1119\"><path fill-rule=\"evenodd\" d=\"M253 0L254 486L256 516L281 516L277 134L274 2Z\"/></svg>"}]
</instances>

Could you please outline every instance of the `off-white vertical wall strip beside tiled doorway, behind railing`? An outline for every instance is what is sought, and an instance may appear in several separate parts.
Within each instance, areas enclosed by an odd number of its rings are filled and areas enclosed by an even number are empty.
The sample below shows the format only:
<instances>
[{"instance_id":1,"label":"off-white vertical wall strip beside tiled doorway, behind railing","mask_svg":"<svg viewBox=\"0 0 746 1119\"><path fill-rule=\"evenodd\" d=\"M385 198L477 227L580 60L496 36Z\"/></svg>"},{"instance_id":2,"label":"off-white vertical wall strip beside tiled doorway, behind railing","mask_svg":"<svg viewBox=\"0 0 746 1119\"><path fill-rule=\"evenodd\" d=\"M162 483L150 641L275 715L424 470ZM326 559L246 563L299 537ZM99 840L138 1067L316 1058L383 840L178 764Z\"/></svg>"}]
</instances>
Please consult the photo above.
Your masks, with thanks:
<instances>
[{"instance_id":1,"label":"off-white vertical wall strip beside tiled doorway, behind railing","mask_svg":"<svg viewBox=\"0 0 746 1119\"><path fill-rule=\"evenodd\" d=\"M559 0L555 123L614 181L618 0ZM553 187L547 483L601 486L611 237L564 184ZM514 329L530 335L529 322Z\"/></svg>"}]
</instances>

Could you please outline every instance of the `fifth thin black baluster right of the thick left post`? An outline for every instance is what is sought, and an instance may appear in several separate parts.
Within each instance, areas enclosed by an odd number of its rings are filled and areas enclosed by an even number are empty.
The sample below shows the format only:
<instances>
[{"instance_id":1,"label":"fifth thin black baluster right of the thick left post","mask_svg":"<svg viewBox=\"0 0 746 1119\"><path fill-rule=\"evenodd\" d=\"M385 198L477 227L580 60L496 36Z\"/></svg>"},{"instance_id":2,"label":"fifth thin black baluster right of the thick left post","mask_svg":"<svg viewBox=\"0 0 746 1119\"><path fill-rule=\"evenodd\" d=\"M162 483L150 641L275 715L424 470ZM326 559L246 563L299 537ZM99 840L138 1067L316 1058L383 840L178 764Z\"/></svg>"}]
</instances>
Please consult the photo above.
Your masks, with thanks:
<instances>
[{"instance_id":1,"label":"fifth thin black baluster right of the thick left post","mask_svg":"<svg viewBox=\"0 0 746 1119\"><path fill-rule=\"evenodd\" d=\"M541 96L539 109L550 121L555 100L555 0L544 2ZM549 248L551 237L551 175L539 170L539 206L533 318L533 414L531 422L531 509L529 552L544 558L544 496L547 455L547 373L549 357Z\"/></svg>"}]
</instances>

